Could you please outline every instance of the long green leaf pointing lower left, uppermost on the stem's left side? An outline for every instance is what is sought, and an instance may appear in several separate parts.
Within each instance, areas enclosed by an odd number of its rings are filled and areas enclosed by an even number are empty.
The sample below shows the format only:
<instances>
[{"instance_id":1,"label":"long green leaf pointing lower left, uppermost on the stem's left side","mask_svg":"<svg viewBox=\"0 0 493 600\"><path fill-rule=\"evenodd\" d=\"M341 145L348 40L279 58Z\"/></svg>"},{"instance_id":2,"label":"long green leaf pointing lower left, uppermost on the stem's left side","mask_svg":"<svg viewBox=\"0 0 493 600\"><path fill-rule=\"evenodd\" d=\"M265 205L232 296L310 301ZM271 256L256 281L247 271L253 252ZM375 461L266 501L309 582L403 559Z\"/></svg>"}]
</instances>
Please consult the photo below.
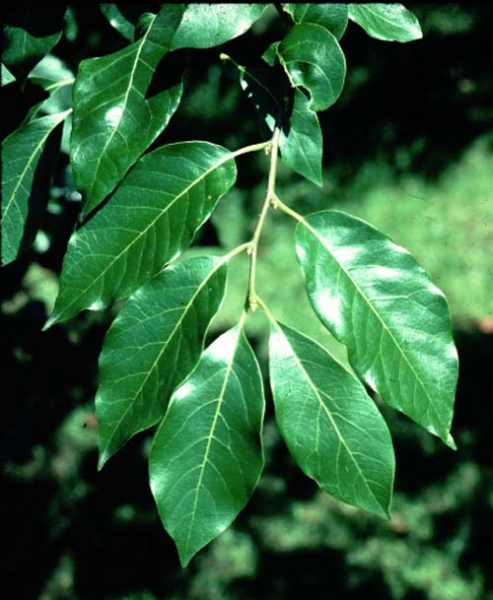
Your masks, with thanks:
<instances>
[{"instance_id":1,"label":"long green leaf pointing lower left, uppermost on the stem's left side","mask_svg":"<svg viewBox=\"0 0 493 600\"><path fill-rule=\"evenodd\" d=\"M208 142L170 144L144 156L72 235L45 328L134 292L188 248L235 179L231 153Z\"/></svg>"}]
</instances>

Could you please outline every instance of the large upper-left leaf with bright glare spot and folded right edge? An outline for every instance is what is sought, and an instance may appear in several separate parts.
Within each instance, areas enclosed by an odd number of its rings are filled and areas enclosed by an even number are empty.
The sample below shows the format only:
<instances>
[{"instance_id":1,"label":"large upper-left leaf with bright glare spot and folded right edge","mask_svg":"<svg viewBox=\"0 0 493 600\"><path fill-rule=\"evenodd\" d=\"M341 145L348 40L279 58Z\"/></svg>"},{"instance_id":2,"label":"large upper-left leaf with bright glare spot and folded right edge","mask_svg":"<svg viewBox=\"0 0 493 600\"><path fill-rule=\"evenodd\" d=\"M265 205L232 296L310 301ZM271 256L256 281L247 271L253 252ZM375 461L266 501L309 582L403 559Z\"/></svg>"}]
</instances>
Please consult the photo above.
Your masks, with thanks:
<instances>
[{"instance_id":1,"label":"large upper-left leaf with bright glare spot and folded right edge","mask_svg":"<svg viewBox=\"0 0 493 600\"><path fill-rule=\"evenodd\" d=\"M177 109L181 84L147 97L183 7L165 6L145 34L122 50L82 61L74 85L71 163L87 215L120 183Z\"/></svg>"}]
</instances>

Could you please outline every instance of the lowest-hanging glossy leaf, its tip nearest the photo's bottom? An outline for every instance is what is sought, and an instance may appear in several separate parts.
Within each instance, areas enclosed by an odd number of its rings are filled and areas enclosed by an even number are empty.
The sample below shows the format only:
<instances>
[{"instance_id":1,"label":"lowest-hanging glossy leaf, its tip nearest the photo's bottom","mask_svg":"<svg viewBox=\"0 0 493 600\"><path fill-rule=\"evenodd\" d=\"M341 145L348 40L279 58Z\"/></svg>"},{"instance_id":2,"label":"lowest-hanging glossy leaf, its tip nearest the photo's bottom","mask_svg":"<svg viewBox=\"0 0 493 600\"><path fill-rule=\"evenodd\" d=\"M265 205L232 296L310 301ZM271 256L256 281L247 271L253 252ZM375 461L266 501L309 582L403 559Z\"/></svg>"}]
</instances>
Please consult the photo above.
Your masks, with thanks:
<instances>
[{"instance_id":1,"label":"lowest-hanging glossy leaf, its tip nearest the photo's bottom","mask_svg":"<svg viewBox=\"0 0 493 600\"><path fill-rule=\"evenodd\" d=\"M151 489L186 566L234 521L264 465L264 393L237 326L202 355L173 394L151 450Z\"/></svg>"}]
</instances>

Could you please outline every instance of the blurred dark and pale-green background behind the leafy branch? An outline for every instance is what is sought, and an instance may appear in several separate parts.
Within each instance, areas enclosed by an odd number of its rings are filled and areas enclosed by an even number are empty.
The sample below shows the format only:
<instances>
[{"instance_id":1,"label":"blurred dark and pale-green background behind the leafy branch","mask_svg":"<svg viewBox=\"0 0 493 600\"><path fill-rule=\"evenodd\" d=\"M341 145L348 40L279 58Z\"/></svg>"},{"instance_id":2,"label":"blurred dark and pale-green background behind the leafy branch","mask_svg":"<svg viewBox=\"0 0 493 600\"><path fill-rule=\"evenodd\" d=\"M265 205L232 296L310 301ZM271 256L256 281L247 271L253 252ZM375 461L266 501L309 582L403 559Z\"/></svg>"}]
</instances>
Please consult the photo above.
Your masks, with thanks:
<instances>
[{"instance_id":1,"label":"blurred dark and pale-green background behind the leafy branch","mask_svg":"<svg viewBox=\"0 0 493 600\"><path fill-rule=\"evenodd\" d=\"M301 213L339 208L370 221L445 292L460 355L457 452L385 411L397 456L387 522L318 491L293 465L269 408L257 491L234 526L182 570L149 491L150 436L137 436L97 471L97 357L116 309L41 332L80 209L62 154L42 233L0 273L1 597L493 599L493 4L407 6L420 19L421 41L380 42L349 24L341 41L345 91L320 115L324 186L281 165L277 191ZM252 48L263 50L282 32L269 10L222 50L250 65ZM63 63L53 68L76 73L81 59L124 44L97 4L76 3L53 51ZM188 58L188 95L159 143L204 139L236 149L262 141L218 50ZM249 239L265 156L242 157L238 167L238 185L197 246L224 252ZM273 213L261 243L259 291L272 312L303 321L344 359L305 299L293 223ZM211 339L235 322L244 301L248 265L235 261ZM248 332L264 371L266 330L255 315Z\"/></svg>"}]
</instances>

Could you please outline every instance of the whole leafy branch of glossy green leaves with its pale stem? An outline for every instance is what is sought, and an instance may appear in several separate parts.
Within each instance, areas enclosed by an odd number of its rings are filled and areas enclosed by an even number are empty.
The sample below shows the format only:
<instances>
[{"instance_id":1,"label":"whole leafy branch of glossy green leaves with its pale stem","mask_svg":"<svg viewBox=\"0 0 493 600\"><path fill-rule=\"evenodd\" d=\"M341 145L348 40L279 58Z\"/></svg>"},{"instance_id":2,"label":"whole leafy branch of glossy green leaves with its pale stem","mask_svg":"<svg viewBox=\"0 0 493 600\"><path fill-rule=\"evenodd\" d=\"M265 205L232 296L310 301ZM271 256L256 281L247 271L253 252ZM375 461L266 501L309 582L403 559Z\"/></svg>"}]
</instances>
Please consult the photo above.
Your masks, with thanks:
<instances>
[{"instance_id":1,"label":"whole leafy branch of glossy green leaves with its pale stem","mask_svg":"<svg viewBox=\"0 0 493 600\"><path fill-rule=\"evenodd\" d=\"M32 14L24 26L11 22L5 30L7 85L36 84L45 98L3 143L2 264L33 243L66 140L83 202L45 328L124 301L99 361L99 466L132 436L156 427L150 485L183 565L233 522L262 473L266 394L244 331L258 308L270 326L279 430L302 471L329 494L389 515L395 458L376 396L454 447L457 353L443 294L404 248L370 224L331 210L303 216L276 194L279 160L322 185L317 113L342 93L340 41L348 22L398 42L421 37L419 23L399 4L276 7L287 32L263 49L262 67L222 52L263 17L262 4L165 3L142 13L102 4L128 43L83 60L75 77L60 70L55 81L33 66L60 39L63 15L55 34L28 27ZM156 77L163 60L211 48L225 68L233 65L269 139L236 150L206 140L154 148L186 94L184 72L178 80ZM269 164L252 238L221 257L183 256L235 185L236 158L250 152L265 153ZM279 322L257 291L271 210L296 223L308 298L346 346L351 371L306 336L302 323L297 330ZM204 349L241 253L250 257L244 310ZM295 301L281 281L279 289Z\"/></svg>"}]
</instances>

